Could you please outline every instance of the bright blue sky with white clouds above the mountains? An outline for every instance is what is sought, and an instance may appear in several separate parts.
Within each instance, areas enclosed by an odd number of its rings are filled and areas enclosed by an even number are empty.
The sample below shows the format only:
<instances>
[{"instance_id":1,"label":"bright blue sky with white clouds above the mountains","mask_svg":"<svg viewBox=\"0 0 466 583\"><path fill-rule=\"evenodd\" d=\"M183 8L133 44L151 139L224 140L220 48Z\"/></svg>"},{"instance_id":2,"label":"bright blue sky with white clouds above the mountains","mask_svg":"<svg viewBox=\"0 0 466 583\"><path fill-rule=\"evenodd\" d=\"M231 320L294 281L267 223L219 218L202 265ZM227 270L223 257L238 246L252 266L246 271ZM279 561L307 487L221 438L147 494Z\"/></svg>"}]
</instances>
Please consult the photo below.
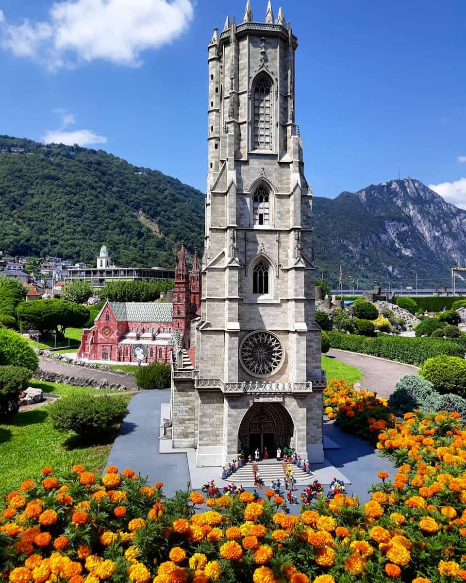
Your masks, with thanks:
<instances>
[{"instance_id":1,"label":"bright blue sky with white clouds above the mountains","mask_svg":"<svg viewBox=\"0 0 466 583\"><path fill-rule=\"evenodd\" d=\"M206 46L245 3L0 0L0 133L101 147L204 191ZM252 0L255 20L266 3ZM299 41L296 122L314 194L400 167L466 208L466 2L281 5Z\"/></svg>"}]
</instances>

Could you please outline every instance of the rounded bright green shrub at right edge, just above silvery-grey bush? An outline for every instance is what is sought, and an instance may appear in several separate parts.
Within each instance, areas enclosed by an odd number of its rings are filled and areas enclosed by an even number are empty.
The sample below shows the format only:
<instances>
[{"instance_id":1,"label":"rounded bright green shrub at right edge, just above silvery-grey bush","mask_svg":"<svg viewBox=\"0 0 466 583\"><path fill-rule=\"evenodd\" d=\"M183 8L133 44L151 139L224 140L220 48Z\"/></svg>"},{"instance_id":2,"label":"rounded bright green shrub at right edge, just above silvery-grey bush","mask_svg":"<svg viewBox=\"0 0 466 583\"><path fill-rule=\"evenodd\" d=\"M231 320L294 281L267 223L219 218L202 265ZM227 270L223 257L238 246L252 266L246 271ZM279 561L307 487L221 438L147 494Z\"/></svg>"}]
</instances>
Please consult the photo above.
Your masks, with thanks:
<instances>
[{"instance_id":1,"label":"rounded bright green shrub at right edge, just above silvery-grey bush","mask_svg":"<svg viewBox=\"0 0 466 583\"><path fill-rule=\"evenodd\" d=\"M421 368L421 374L432 382L439 393L466 395L466 360L462 358L440 354L427 359Z\"/></svg>"}]
</instances>

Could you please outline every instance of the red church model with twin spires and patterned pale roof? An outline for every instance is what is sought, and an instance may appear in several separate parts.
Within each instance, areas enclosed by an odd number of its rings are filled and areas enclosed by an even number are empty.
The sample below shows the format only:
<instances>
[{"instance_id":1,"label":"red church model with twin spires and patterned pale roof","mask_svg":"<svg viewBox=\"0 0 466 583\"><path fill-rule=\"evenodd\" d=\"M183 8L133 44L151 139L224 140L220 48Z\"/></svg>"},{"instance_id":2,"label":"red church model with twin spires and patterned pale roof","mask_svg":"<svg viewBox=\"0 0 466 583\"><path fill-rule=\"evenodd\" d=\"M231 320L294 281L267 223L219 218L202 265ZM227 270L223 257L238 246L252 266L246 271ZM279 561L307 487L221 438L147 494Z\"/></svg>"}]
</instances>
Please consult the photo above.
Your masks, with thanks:
<instances>
[{"instance_id":1,"label":"red church model with twin spires and patterned pale roof","mask_svg":"<svg viewBox=\"0 0 466 583\"><path fill-rule=\"evenodd\" d=\"M175 345L189 349L190 322L200 307L200 266L195 252L188 271L183 245L178 257L173 303L107 301L93 327L83 330L79 359L136 363L132 349L144 345L148 363L169 363Z\"/></svg>"}]
</instances>

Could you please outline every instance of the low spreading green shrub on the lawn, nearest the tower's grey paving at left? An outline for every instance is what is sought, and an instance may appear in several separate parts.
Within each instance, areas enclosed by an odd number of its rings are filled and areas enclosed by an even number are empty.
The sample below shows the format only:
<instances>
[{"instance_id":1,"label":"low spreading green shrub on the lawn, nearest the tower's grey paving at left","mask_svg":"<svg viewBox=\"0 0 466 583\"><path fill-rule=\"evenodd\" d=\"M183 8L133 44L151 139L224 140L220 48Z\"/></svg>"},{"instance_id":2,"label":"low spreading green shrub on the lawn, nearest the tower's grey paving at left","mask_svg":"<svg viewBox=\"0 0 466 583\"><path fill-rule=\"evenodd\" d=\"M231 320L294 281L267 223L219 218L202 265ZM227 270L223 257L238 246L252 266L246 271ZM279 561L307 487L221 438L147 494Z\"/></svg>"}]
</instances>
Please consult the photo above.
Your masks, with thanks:
<instances>
[{"instance_id":1,"label":"low spreading green shrub on the lawn, nearest the tower's grey paving at left","mask_svg":"<svg viewBox=\"0 0 466 583\"><path fill-rule=\"evenodd\" d=\"M48 415L55 429L96 438L125 419L126 402L122 396L69 395L52 403Z\"/></svg>"}]
</instances>

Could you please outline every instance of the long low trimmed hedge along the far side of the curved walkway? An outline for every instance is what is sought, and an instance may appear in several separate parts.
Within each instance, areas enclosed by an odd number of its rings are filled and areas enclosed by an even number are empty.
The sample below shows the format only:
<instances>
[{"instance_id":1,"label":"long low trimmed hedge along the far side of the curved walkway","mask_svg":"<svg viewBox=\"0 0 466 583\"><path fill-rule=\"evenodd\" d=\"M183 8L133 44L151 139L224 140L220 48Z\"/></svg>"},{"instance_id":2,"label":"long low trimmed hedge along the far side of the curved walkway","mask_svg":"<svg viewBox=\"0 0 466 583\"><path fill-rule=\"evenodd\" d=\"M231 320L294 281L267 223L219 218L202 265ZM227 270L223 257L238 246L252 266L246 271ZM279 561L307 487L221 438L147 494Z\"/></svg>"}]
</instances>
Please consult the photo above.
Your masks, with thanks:
<instances>
[{"instance_id":1,"label":"long low trimmed hedge along the far side of the curved walkway","mask_svg":"<svg viewBox=\"0 0 466 583\"><path fill-rule=\"evenodd\" d=\"M386 334L368 338L341 332L327 332L327 334L331 348L370 354L406 364L421 365L425 360L439 354L461 358L464 356L464 348L461 345L440 338L407 338Z\"/></svg>"}]
</instances>

